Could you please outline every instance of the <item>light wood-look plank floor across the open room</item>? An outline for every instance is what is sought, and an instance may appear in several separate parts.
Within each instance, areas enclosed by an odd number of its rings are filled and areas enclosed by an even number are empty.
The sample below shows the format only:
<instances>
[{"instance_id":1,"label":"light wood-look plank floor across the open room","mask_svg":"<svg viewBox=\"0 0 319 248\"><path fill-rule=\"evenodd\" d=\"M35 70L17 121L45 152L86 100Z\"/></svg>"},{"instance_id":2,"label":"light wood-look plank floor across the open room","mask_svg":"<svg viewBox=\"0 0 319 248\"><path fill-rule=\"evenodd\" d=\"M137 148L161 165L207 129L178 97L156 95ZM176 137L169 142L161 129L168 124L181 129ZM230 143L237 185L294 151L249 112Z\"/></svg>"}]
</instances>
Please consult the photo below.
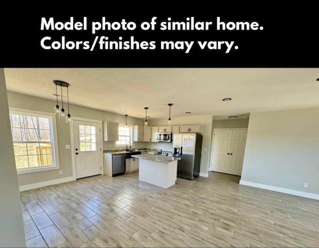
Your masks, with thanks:
<instances>
[{"instance_id":1,"label":"light wood-look plank floor across the open room","mask_svg":"<svg viewBox=\"0 0 319 248\"><path fill-rule=\"evenodd\" d=\"M28 247L319 247L319 201L209 172L163 189L138 171L20 192Z\"/></svg>"}]
</instances>

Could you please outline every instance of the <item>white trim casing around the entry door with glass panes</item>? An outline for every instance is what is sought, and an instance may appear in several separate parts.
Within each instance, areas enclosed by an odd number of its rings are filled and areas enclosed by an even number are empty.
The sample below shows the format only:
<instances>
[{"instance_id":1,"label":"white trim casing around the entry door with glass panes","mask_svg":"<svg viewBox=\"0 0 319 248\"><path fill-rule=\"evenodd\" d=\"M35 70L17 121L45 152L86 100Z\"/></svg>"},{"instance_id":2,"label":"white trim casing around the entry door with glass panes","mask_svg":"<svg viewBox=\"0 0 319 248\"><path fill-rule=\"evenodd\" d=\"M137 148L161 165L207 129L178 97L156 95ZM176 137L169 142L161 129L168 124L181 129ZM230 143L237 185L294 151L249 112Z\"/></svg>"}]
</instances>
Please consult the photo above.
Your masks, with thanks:
<instances>
[{"instance_id":1,"label":"white trim casing around the entry door with glass panes","mask_svg":"<svg viewBox=\"0 0 319 248\"><path fill-rule=\"evenodd\" d=\"M103 121L86 119L81 117L72 117L72 124L70 125L70 133L71 133L71 149L74 149L74 124L73 121L81 121L81 122L90 122L90 123L98 123L100 124L100 159L101 159L101 174L104 174L104 165L103 165ZM73 180L76 180L76 168L75 168L75 151L71 152L72 158L72 175Z\"/></svg>"}]
</instances>

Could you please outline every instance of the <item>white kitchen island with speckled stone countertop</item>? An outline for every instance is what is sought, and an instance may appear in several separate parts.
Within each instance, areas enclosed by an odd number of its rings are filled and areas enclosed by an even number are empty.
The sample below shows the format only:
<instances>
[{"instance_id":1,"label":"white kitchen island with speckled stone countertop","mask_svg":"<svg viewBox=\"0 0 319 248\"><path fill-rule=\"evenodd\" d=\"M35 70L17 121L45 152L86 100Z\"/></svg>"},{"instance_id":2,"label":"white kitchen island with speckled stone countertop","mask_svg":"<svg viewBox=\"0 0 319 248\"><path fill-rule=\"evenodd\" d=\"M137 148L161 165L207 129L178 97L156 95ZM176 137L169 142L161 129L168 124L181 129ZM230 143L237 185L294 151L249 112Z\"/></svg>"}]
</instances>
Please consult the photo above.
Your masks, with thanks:
<instances>
[{"instance_id":1,"label":"white kitchen island with speckled stone countertop","mask_svg":"<svg viewBox=\"0 0 319 248\"><path fill-rule=\"evenodd\" d=\"M152 154L132 155L139 159L139 180L167 189L175 184L177 178L177 160Z\"/></svg>"}]
</instances>

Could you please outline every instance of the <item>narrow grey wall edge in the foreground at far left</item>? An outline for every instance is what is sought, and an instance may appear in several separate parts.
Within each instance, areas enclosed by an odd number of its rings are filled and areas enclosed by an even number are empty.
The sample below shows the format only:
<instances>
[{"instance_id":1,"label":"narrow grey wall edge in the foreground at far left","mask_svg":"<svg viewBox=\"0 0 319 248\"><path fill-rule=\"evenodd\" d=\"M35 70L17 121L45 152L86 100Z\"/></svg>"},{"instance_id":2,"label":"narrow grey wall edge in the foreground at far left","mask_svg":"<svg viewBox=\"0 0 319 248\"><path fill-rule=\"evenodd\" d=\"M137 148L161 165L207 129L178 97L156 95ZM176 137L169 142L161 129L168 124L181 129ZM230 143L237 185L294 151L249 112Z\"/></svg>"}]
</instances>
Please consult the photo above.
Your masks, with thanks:
<instances>
[{"instance_id":1,"label":"narrow grey wall edge in the foreground at far left","mask_svg":"<svg viewBox=\"0 0 319 248\"><path fill-rule=\"evenodd\" d=\"M3 68L0 68L0 247L25 247Z\"/></svg>"}]
</instances>

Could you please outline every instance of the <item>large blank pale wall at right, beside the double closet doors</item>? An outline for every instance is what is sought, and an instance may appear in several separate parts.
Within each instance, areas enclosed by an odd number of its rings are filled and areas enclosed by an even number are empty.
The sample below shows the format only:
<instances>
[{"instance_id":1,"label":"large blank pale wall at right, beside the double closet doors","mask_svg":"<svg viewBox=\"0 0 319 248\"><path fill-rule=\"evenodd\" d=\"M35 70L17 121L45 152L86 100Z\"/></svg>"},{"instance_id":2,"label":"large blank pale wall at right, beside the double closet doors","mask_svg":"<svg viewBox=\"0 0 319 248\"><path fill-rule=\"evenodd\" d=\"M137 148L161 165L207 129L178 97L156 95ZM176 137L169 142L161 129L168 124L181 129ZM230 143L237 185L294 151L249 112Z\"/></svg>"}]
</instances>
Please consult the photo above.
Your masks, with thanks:
<instances>
[{"instance_id":1,"label":"large blank pale wall at right, beside the double closet doors","mask_svg":"<svg viewBox=\"0 0 319 248\"><path fill-rule=\"evenodd\" d=\"M319 108L251 113L249 119L241 180L319 194Z\"/></svg>"}]
</instances>

